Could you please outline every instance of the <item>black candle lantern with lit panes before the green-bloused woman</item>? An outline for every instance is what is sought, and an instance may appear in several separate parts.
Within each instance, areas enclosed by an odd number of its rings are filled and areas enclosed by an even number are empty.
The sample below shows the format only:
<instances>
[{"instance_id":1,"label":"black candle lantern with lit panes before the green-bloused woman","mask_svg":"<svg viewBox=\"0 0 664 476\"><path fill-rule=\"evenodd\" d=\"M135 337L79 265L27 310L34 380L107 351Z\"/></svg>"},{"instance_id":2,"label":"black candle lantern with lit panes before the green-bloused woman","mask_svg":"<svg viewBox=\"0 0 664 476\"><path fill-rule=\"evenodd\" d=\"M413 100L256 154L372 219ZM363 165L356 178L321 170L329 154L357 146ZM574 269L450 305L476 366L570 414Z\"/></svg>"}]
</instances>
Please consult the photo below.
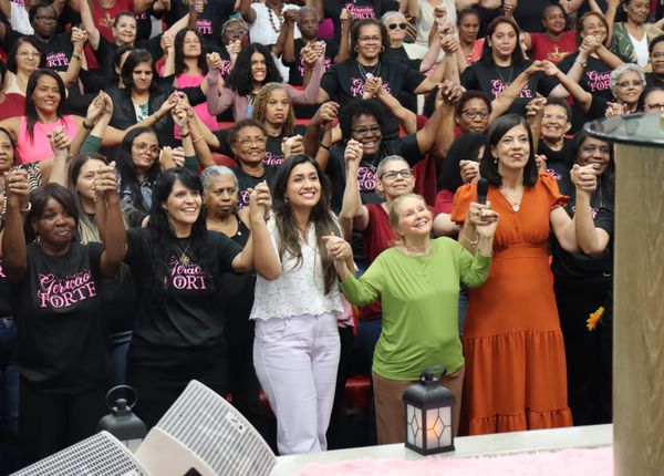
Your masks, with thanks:
<instances>
[{"instance_id":1,"label":"black candle lantern with lit panes before the green-bloused woman","mask_svg":"<svg viewBox=\"0 0 664 476\"><path fill-rule=\"evenodd\" d=\"M454 451L452 408L454 394L438 383L437 365L404 392L406 447L422 455ZM443 369L443 375L446 371Z\"/></svg>"}]
</instances>

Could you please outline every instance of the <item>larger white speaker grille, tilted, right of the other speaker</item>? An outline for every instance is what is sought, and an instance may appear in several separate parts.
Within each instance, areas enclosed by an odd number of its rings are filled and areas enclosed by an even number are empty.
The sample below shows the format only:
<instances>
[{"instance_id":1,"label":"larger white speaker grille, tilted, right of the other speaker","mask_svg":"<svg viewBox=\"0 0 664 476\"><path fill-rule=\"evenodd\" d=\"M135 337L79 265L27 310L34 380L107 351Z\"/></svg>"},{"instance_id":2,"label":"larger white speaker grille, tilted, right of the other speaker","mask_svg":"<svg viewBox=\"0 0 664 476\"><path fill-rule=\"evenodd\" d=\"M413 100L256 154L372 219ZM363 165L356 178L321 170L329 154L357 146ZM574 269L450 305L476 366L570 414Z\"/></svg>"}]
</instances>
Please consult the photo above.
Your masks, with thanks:
<instances>
[{"instance_id":1,"label":"larger white speaker grille, tilted, right of the other speaker","mask_svg":"<svg viewBox=\"0 0 664 476\"><path fill-rule=\"evenodd\" d=\"M191 449L224 476L269 475L277 458L230 403L191 381L157 427Z\"/></svg>"}]
</instances>

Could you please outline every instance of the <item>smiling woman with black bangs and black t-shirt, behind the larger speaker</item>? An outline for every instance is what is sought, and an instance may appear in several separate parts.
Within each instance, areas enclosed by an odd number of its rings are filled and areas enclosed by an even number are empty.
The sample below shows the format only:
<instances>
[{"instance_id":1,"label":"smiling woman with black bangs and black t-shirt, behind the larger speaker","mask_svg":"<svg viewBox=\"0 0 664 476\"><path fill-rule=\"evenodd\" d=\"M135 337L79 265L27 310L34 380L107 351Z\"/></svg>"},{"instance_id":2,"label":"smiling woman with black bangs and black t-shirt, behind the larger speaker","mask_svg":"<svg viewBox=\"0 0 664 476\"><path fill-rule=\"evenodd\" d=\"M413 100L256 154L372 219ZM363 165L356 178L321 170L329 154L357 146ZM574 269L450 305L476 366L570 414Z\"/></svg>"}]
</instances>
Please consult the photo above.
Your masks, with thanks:
<instances>
[{"instance_id":1,"label":"smiling woman with black bangs and black t-shirt, behind the larger speaker","mask_svg":"<svg viewBox=\"0 0 664 476\"><path fill-rule=\"evenodd\" d=\"M141 297L128 353L127 382L136 414L154 426L190 380L228 391L224 272L260 269L271 250L264 223L267 185L251 194L252 235L245 249L206 228L203 186L186 168L166 170L154 188L147 228L127 231L126 262Z\"/></svg>"}]
</instances>

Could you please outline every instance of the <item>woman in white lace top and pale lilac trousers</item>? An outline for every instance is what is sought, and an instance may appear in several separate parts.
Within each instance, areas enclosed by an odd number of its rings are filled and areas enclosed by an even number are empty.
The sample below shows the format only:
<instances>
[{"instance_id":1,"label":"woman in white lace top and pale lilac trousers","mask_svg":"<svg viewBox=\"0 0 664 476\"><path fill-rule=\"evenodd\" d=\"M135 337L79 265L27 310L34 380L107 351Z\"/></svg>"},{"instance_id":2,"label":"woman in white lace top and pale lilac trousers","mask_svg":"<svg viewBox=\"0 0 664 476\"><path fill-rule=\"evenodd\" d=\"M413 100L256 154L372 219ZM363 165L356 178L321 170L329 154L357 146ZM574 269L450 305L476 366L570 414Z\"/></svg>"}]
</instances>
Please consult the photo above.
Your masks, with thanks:
<instances>
[{"instance_id":1,"label":"woman in white lace top and pale lilac trousers","mask_svg":"<svg viewBox=\"0 0 664 476\"><path fill-rule=\"evenodd\" d=\"M278 272L263 278L259 270L251 319L253 365L277 417L281 455L326 449L340 355L336 317L343 312L324 245L325 236L341 236L330 194L328 178L307 155L289 157L272 180L268 230L276 252L269 267Z\"/></svg>"}]
</instances>

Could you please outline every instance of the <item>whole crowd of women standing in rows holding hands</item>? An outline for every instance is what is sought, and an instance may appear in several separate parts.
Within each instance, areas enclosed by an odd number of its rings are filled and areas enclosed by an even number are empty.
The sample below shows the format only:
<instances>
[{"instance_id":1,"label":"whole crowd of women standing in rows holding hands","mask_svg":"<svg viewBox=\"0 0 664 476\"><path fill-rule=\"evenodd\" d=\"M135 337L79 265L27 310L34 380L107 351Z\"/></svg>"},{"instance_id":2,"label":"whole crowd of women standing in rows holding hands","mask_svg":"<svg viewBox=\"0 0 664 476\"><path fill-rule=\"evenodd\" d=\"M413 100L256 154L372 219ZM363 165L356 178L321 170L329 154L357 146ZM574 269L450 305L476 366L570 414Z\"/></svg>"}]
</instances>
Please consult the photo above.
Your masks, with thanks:
<instances>
[{"instance_id":1,"label":"whole crowd of women standing in rows holding hands","mask_svg":"<svg viewBox=\"0 0 664 476\"><path fill-rule=\"evenodd\" d=\"M282 455L343 445L351 372L367 444L437 364L455 433L610 422L582 125L664 111L651 4L0 0L0 474L124 383L148 427L196 379L268 435L262 390Z\"/></svg>"}]
</instances>

